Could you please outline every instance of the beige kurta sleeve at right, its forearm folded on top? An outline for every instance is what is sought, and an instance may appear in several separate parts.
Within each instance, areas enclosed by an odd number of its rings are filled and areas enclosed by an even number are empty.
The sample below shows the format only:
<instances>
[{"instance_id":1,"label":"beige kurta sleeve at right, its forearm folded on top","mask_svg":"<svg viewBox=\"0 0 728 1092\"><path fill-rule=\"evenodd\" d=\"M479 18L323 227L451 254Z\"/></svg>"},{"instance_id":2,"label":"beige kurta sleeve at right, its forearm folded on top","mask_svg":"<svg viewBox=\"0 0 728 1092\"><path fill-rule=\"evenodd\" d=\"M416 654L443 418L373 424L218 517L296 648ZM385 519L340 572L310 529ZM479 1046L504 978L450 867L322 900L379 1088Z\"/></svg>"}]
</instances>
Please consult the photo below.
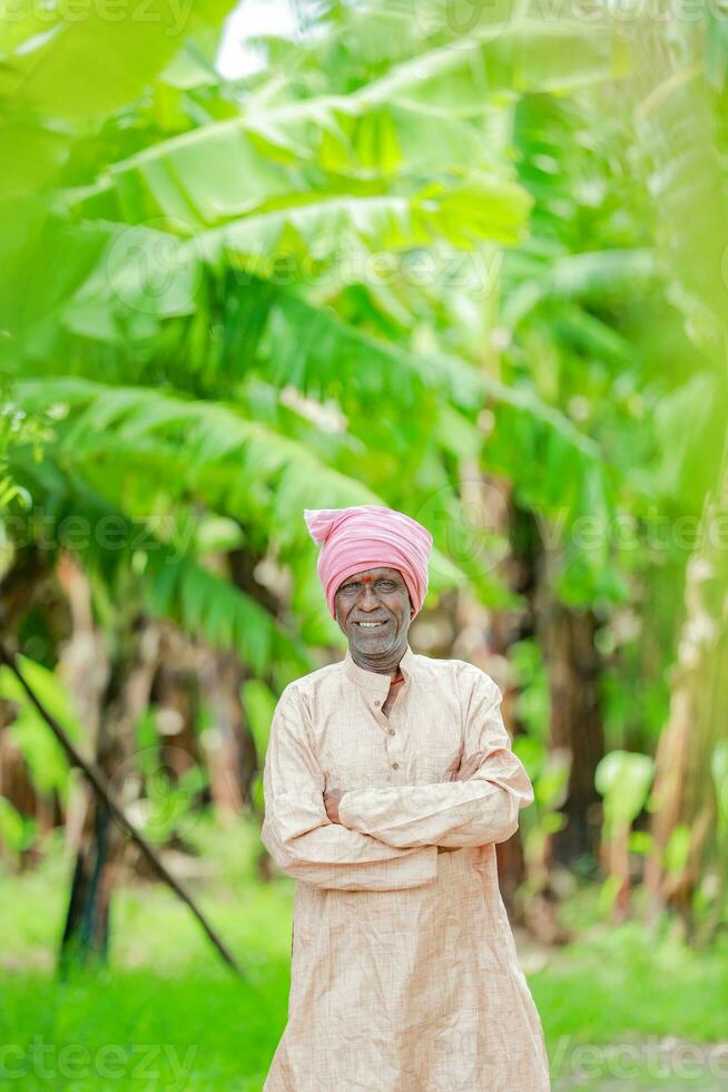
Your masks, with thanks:
<instances>
[{"instance_id":1,"label":"beige kurta sleeve at right, its forearm folded on top","mask_svg":"<svg viewBox=\"0 0 728 1092\"><path fill-rule=\"evenodd\" d=\"M461 769L473 764L472 776L435 784L352 789L338 807L346 827L399 848L461 849L505 841L514 833L520 809L533 802L533 788L511 749L501 691L479 669L466 672L465 685L471 680L464 695Z\"/></svg>"}]
</instances>

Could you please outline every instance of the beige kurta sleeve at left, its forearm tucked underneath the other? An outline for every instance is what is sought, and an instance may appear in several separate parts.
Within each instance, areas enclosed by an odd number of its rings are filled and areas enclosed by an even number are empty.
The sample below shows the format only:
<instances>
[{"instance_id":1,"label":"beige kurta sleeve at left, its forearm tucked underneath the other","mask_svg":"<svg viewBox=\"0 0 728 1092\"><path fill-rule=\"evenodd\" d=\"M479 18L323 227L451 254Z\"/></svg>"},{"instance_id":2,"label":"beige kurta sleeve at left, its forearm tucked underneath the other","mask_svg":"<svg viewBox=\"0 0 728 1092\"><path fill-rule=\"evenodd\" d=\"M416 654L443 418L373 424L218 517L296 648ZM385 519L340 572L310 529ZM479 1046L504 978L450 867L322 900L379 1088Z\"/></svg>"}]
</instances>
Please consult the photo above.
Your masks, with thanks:
<instances>
[{"instance_id":1,"label":"beige kurta sleeve at left, its forearm tucked underneath the other","mask_svg":"<svg viewBox=\"0 0 728 1092\"><path fill-rule=\"evenodd\" d=\"M336 890L399 890L433 884L437 849L397 849L332 822L324 776L306 731L299 695L286 688L276 706L263 774L262 840L294 879Z\"/></svg>"}]
</instances>

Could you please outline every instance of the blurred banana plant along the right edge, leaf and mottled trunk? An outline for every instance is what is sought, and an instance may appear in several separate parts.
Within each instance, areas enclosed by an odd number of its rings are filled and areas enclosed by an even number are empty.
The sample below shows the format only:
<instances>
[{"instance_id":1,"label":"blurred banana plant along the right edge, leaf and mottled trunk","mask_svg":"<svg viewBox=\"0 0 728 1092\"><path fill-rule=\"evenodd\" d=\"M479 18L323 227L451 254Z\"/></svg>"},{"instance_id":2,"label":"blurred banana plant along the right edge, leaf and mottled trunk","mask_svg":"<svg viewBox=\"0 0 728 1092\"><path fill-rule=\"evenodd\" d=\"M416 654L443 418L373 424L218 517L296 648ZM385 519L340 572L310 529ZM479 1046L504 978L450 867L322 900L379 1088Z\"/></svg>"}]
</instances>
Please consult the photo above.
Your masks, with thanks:
<instances>
[{"instance_id":1,"label":"blurred banana plant along the right edge, leaf and mottled trunk","mask_svg":"<svg viewBox=\"0 0 728 1092\"><path fill-rule=\"evenodd\" d=\"M708 472L698 477L700 523L686 571L669 715L657 750L648 884L653 920L670 906L688 935L706 939L720 919L726 879L720 768L726 743L728 574L721 528L728 487L728 280L726 238L716 231L728 211L720 113L726 42L721 21L708 12L690 27L672 20L668 32L669 40L655 31L645 39L640 146L660 195L660 256L671 294L700 353L704 398L717 397L722 415L718 428L702 428L696 437ZM678 487L695 491L695 470L676 478Z\"/></svg>"}]
</instances>

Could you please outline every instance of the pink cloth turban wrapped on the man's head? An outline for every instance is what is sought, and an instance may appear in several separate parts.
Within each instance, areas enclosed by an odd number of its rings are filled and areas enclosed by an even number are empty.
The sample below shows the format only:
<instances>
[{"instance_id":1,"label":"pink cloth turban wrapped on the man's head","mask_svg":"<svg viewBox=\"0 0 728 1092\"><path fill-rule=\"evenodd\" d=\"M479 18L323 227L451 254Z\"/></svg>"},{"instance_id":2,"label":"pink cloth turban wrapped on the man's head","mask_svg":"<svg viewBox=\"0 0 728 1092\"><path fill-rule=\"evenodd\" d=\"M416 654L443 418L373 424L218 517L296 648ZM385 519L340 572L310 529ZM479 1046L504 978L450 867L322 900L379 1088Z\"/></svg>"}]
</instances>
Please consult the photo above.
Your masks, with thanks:
<instances>
[{"instance_id":1,"label":"pink cloth turban wrapped on the man's head","mask_svg":"<svg viewBox=\"0 0 728 1092\"><path fill-rule=\"evenodd\" d=\"M305 508L304 519L315 543L323 543L317 571L332 618L334 596L354 573L396 568L407 585L414 613L427 594L427 558L432 535L411 516L382 505L355 508Z\"/></svg>"}]
</instances>

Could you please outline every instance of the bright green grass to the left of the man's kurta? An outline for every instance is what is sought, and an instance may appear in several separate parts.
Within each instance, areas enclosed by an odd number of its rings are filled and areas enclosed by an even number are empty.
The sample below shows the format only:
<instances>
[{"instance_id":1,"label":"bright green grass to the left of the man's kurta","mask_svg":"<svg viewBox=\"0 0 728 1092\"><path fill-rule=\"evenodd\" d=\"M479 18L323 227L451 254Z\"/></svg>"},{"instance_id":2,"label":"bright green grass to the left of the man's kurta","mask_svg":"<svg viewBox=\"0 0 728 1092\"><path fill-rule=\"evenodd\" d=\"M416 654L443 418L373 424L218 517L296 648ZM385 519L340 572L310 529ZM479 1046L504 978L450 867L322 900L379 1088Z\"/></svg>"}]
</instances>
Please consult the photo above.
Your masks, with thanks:
<instances>
[{"instance_id":1,"label":"bright green grass to the left of the man's kurta","mask_svg":"<svg viewBox=\"0 0 728 1092\"><path fill-rule=\"evenodd\" d=\"M255 883L252 836L197 830L217 875L187 881L242 978L166 887L145 884L115 895L109 968L59 982L70 862L55 851L1 877L0 1089L263 1086L286 1020L292 886Z\"/></svg>"}]
</instances>

